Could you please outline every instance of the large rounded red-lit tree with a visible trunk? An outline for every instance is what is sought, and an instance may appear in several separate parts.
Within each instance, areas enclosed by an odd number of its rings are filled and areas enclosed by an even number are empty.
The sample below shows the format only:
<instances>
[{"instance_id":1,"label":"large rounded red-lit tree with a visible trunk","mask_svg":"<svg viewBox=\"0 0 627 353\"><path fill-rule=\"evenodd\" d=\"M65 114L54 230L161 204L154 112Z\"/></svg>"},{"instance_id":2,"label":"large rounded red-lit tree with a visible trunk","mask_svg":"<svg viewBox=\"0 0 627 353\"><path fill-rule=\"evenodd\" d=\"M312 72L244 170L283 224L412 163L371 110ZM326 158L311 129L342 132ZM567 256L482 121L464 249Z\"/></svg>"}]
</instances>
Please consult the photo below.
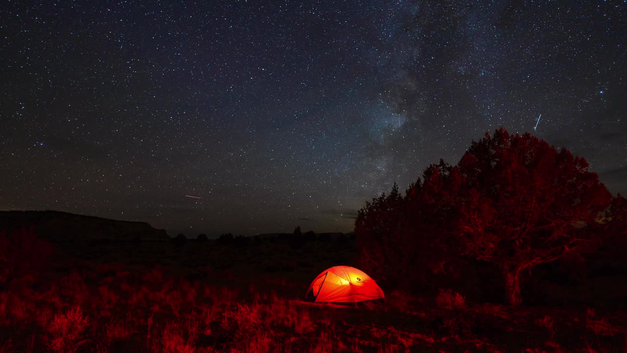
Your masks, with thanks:
<instances>
[{"instance_id":1,"label":"large rounded red-lit tree with a visible trunk","mask_svg":"<svg viewBox=\"0 0 627 353\"><path fill-rule=\"evenodd\" d=\"M590 246L611 200L584 158L503 128L473 142L446 178L424 182L423 193L450 219L445 239L501 269L513 306L522 302L523 271Z\"/></svg>"}]
</instances>

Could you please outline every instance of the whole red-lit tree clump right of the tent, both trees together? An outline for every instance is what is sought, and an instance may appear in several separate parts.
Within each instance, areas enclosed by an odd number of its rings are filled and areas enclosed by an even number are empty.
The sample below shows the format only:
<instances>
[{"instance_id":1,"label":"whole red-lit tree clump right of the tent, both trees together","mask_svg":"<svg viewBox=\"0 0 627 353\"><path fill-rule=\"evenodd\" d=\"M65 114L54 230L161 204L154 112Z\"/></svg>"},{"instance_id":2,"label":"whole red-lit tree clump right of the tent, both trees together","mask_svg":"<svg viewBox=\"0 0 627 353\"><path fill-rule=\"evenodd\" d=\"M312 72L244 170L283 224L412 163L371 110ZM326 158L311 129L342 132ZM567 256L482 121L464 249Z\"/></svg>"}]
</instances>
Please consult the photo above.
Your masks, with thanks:
<instances>
[{"instance_id":1,"label":"whole red-lit tree clump right of the tent, both trees together","mask_svg":"<svg viewBox=\"0 0 627 353\"><path fill-rule=\"evenodd\" d=\"M506 299L517 306L525 269L594 249L604 234L596 220L611 194L587 168L530 134L486 134L458 165L429 166L406 197L395 185L360 210L362 266L401 274L401 285L424 268L445 271L463 254L497 266Z\"/></svg>"}]
</instances>

